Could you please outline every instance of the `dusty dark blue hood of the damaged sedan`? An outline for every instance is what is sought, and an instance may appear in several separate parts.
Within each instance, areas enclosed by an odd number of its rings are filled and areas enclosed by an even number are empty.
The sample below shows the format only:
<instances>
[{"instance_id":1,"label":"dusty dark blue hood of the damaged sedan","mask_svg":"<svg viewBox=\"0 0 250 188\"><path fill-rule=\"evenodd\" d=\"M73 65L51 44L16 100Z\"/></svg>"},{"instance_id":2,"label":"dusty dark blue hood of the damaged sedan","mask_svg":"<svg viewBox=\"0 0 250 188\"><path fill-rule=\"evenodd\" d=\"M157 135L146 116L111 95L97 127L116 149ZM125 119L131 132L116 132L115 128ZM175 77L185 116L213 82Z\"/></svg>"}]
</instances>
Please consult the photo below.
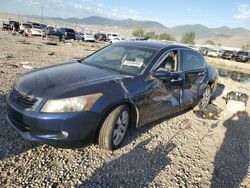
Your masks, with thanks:
<instances>
[{"instance_id":1,"label":"dusty dark blue hood of the damaged sedan","mask_svg":"<svg viewBox=\"0 0 250 188\"><path fill-rule=\"evenodd\" d=\"M15 89L28 95L44 98L71 87L103 82L119 76L118 73L74 61L26 73L16 80Z\"/></svg>"}]
</instances>

